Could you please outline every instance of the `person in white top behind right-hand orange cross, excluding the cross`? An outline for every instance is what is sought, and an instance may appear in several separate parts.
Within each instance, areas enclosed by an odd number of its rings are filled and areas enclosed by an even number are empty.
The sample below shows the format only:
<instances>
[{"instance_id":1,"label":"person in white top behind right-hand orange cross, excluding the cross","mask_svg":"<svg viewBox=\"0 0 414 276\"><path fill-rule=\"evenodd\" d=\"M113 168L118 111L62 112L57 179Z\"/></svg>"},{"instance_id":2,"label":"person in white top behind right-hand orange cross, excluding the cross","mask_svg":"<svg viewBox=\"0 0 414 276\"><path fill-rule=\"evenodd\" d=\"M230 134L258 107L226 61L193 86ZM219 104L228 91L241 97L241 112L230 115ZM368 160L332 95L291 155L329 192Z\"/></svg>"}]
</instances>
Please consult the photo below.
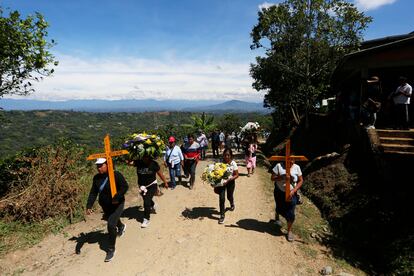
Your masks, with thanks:
<instances>
[{"instance_id":1,"label":"person in white top behind right-hand orange cross, excluding the cross","mask_svg":"<svg viewBox=\"0 0 414 276\"><path fill-rule=\"evenodd\" d=\"M275 223L278 226L282 225L279 216L286 219L288 224L287 240L292 242L294 240L292 226L295 221L295 208L298 202L297 191L303 184L302 171L292 160L290 166L290 201L286 201L285 196L286 170L280 163L277 163L273 168L271 180L275 183L273 192L276 203Z\"/></svg>"}]
</instances>

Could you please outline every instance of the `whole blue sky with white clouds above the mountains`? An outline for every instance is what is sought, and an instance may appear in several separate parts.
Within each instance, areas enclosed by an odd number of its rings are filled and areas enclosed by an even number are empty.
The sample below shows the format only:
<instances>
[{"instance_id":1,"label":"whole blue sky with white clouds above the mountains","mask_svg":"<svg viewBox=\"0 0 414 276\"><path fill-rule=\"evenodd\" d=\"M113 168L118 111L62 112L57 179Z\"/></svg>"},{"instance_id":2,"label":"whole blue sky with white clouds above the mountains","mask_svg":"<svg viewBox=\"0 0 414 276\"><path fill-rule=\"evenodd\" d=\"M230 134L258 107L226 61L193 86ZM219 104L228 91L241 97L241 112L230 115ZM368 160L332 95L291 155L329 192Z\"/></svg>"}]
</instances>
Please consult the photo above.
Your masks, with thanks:
<instances>
[{"instance_id":1,"label":"whole blue sky with white clouds above the mountains","mask_svg":"<svg viewBox=\"0 0 414 276\"><path fill-rule=\"evenodd\" d=\"M239 99L251 88L257 0L0 0L50 23L60 64L28 98ZM355 0L374 21L365 38L414 31L413 0Z\"/></svg>"}]
</instances>

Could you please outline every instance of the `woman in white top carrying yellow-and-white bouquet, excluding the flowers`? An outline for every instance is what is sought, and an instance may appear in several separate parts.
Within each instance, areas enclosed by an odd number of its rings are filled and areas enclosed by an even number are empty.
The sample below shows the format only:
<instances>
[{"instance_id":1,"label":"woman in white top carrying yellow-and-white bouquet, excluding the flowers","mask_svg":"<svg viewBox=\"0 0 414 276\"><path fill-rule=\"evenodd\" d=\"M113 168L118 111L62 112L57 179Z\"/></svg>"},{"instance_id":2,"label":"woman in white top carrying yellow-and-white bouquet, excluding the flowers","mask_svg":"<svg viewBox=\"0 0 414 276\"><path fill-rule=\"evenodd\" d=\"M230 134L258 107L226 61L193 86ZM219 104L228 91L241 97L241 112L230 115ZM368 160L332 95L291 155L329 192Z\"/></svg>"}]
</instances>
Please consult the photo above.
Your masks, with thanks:
<instances>
[{"instance_id":1,"label":"woman in white top carrying yellow-and-white bouquet, excluding the flowers","mask_svg":"<svg viewBox=\"0 0 414 276\"><path fill-rule=\"evenodd\" d=\"M230 211L234 211L236 206L234 205L234 189L236 187L236 179L239 177L239 169L236 161L233 160L233 152L227 148L223 152L223 163L231 168L232 175L226 180L223 186L214 188L214 192L219 195L219 207L220 207L220 219L219 224L224 223L225 218L225 202L226 191L227 199L230 202Z\"/></svg>"}]
</instances>

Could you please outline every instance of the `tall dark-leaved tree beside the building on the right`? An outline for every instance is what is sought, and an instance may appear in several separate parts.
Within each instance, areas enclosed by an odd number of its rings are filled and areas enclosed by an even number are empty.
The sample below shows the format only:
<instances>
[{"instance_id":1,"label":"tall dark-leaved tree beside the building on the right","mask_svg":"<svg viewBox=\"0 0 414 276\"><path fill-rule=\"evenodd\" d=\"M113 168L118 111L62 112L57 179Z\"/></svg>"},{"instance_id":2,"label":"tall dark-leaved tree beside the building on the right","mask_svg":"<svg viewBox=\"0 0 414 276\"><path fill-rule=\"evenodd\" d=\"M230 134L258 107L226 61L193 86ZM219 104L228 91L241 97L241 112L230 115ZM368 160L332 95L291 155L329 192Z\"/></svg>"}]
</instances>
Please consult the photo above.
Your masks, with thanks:
<instances>
[{"instance_id":1,"label":"tall dark-leaved tree beside the building on the right","mask_svg":"<svg viewBox=\"0 0 414 276\"><path fill-rule=\"evenodd\" d=\"M264 104L274 108L277 128L298 124L327 97L335 66L358 49L372 19L345 0L286 0L258 17L251 49L265 56L251 64L253 88L267 91Z\"/></svg>"}]
</instances>

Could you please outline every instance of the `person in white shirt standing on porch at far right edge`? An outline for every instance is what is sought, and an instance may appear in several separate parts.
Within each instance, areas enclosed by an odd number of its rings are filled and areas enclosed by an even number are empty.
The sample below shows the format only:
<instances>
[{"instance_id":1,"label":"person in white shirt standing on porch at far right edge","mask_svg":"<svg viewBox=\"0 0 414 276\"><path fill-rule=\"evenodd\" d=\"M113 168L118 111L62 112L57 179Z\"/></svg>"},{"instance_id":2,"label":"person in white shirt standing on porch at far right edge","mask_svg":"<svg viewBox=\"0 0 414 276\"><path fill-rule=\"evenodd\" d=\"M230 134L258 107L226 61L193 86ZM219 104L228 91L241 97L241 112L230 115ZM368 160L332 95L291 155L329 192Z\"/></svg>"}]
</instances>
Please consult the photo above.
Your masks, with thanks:
<instances>
[{"instance_id":1,"label":"person in white shirt standing on porch at far right edge","mask_svg":"<svg viewBox=\"0 0 414 276\"><path fill-rule=\"evenodd\" d=\"M412 87L407 83L406 77L400 77L400 86L388 97L394 102L393 119L397 129L408 129L408 106L412 95Z\"/></svg>"}]
</instances>

